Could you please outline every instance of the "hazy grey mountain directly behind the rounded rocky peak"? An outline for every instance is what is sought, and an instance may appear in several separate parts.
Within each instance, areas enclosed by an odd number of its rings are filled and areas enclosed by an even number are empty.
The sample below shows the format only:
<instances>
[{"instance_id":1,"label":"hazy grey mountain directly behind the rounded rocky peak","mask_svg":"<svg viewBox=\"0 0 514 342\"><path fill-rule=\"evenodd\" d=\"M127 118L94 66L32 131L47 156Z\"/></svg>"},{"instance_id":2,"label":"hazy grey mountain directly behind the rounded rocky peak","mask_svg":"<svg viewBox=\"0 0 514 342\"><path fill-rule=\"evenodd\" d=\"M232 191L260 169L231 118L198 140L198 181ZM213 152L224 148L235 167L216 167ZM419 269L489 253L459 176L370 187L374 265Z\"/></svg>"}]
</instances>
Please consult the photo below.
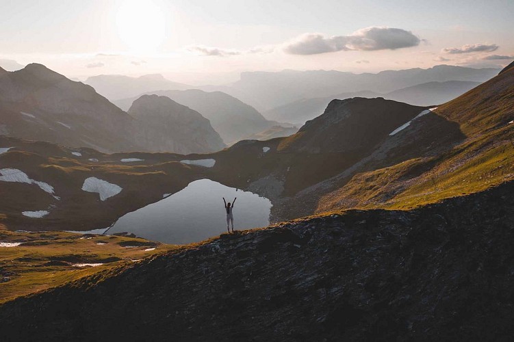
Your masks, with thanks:
<instances>
[{"instance_id":1,"label":"hazy grey mountain directly behind the rounded rocky peak","mask_svg":"<svg viewBox=\"0 0 514 342\"><path fill-rule=\"evenodd\" d=\"M266 120L255 108L224 92L190 89L158 90L146 94L168 96L173 101L198 111L211 121L212 127L227 144L238 142L277 124ZM114 104L127 110L134 100L136 98L125 98L114 101Z\"/></svg>"}]
</instances>

